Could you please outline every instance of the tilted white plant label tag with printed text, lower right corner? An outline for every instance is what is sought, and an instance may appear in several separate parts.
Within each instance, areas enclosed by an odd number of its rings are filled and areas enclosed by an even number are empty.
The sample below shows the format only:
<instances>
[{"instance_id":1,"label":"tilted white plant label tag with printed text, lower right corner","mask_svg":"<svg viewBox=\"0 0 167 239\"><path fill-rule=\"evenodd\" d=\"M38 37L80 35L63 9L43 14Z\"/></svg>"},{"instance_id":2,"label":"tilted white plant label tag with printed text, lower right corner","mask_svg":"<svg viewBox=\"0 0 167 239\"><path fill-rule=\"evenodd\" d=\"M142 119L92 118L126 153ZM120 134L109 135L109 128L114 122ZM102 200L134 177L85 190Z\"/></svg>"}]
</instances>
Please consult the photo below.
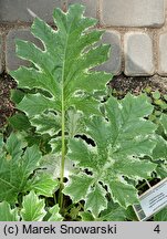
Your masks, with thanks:
<instances>
[{"instance_id":1,"label":"tilted white plant label tag with printed text, lower right corner","mask_svg":"<svg viewBox=\"0 0 167 239\"><path fill-rule=\"evenodd\" d=\"M167 206L167 178L139 196L139 205L134 205L134 210L139 220L149 219Z\"/></svg>"}]
</instances>

